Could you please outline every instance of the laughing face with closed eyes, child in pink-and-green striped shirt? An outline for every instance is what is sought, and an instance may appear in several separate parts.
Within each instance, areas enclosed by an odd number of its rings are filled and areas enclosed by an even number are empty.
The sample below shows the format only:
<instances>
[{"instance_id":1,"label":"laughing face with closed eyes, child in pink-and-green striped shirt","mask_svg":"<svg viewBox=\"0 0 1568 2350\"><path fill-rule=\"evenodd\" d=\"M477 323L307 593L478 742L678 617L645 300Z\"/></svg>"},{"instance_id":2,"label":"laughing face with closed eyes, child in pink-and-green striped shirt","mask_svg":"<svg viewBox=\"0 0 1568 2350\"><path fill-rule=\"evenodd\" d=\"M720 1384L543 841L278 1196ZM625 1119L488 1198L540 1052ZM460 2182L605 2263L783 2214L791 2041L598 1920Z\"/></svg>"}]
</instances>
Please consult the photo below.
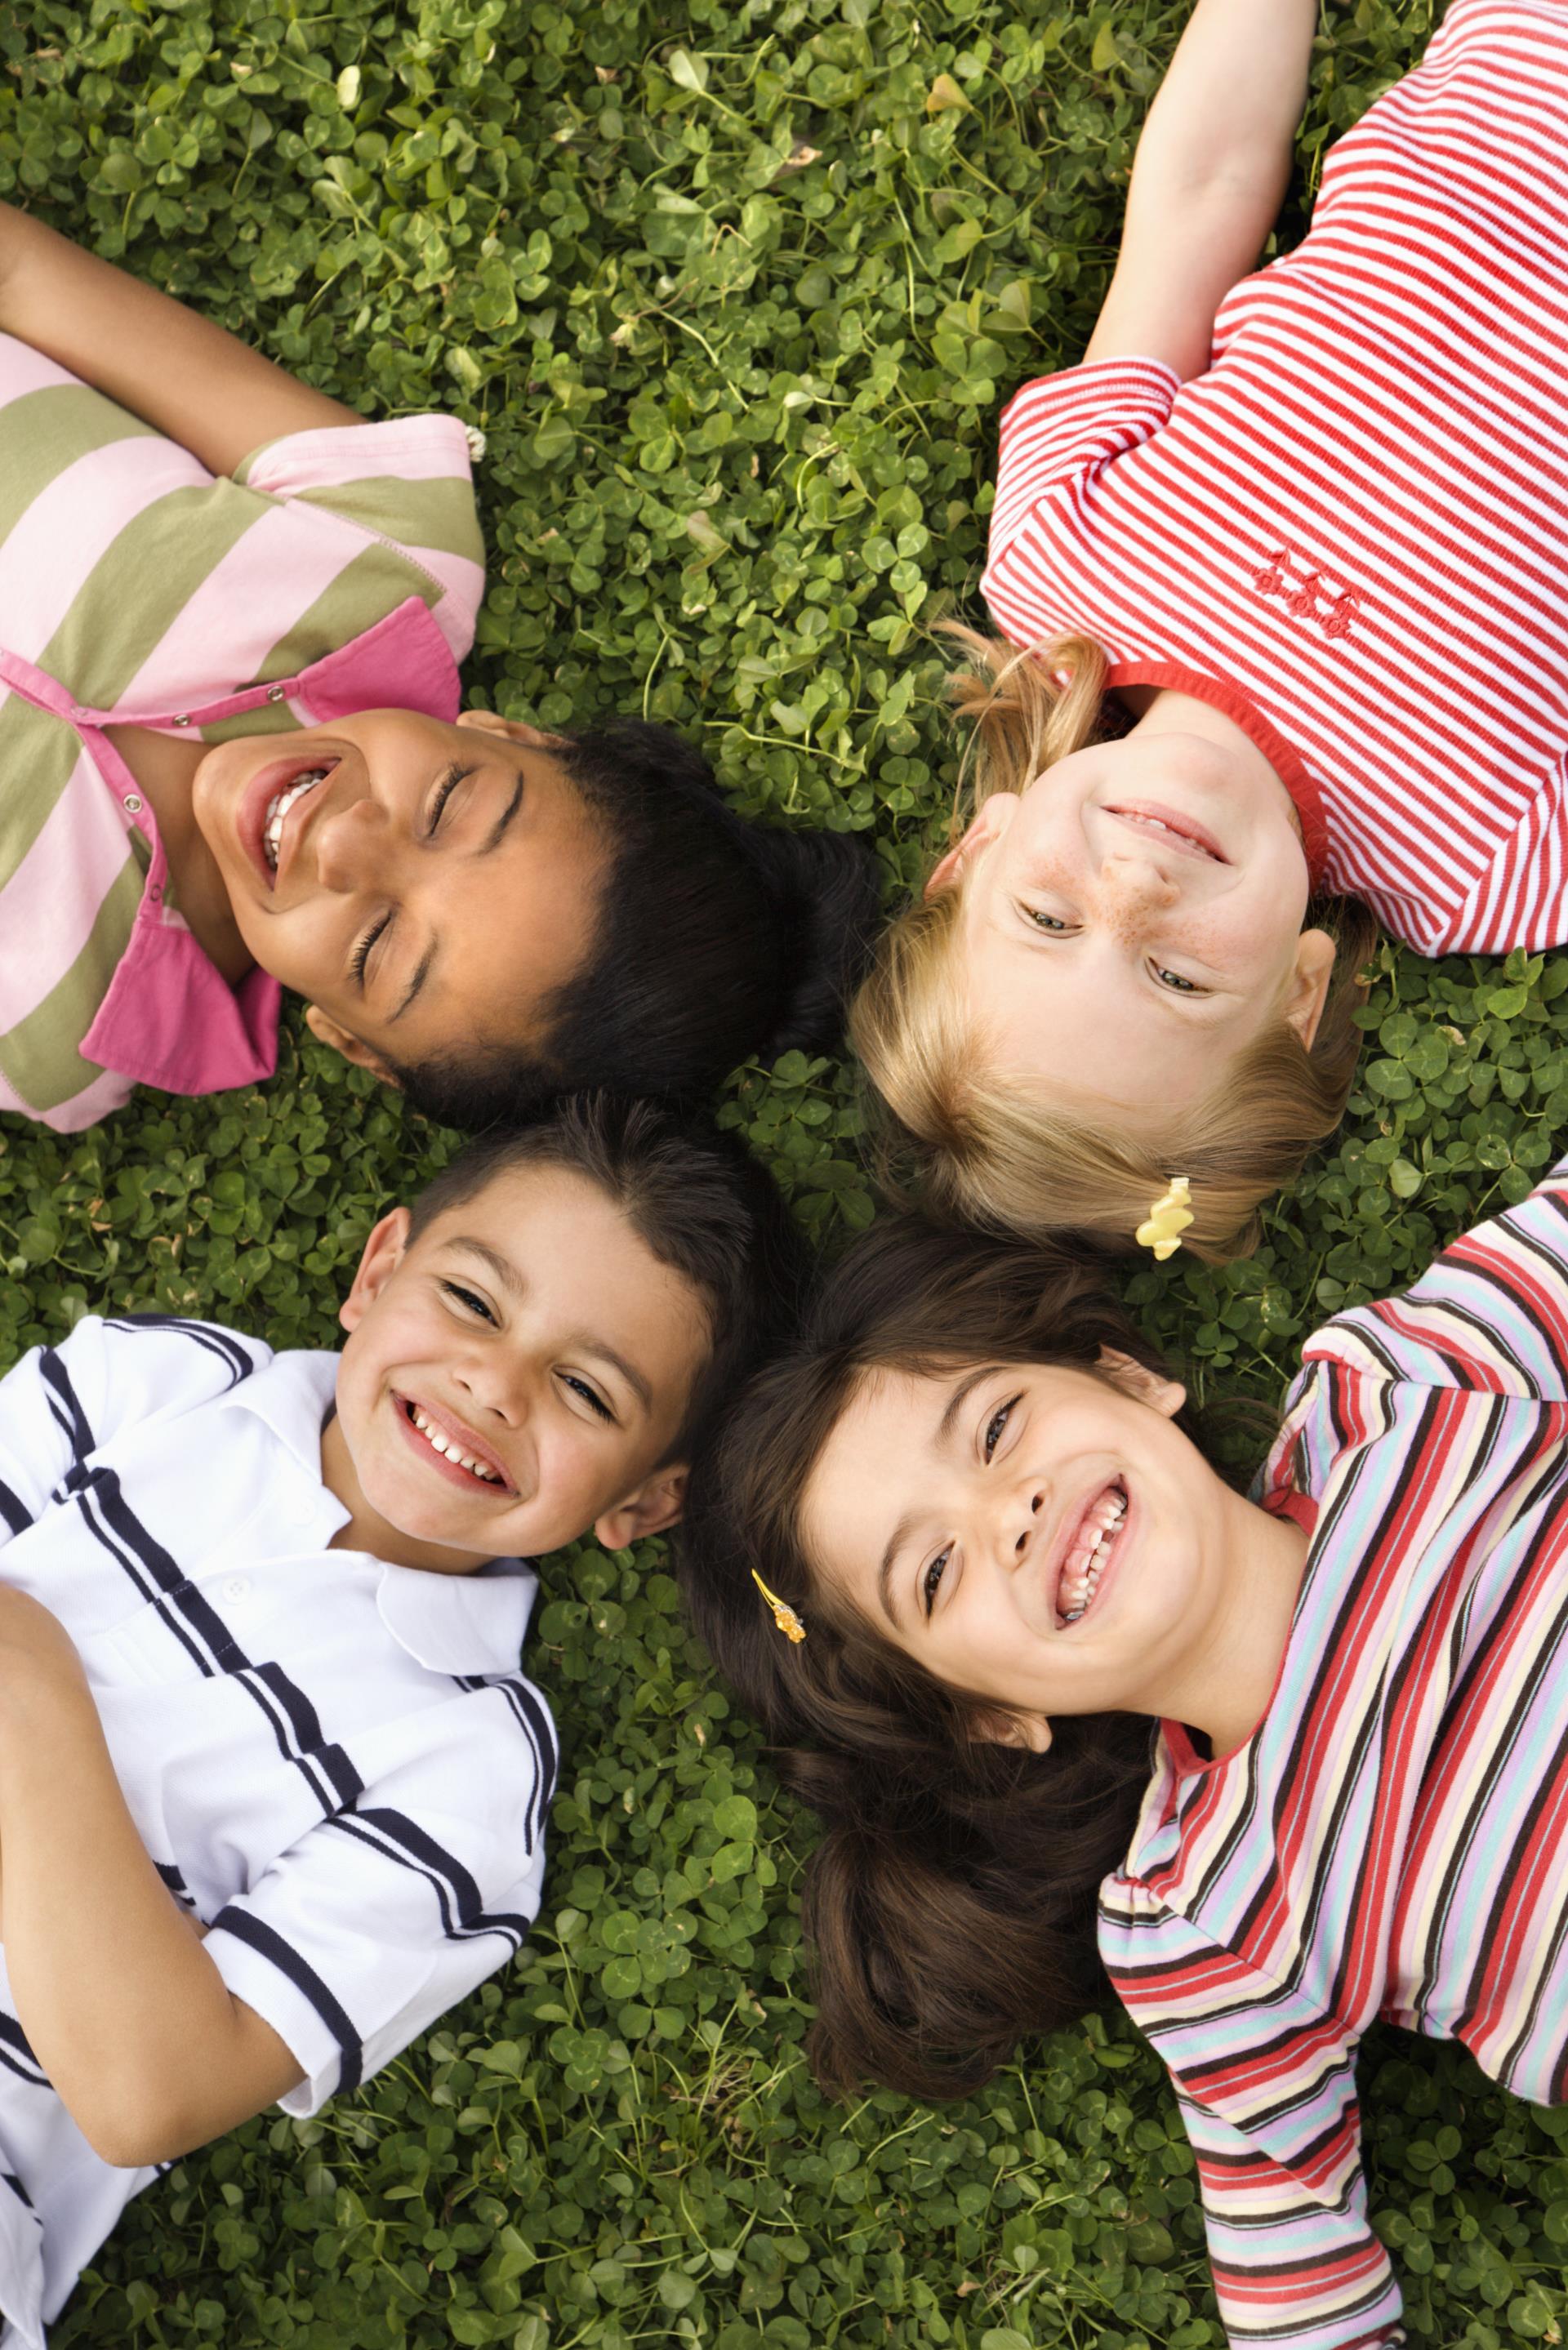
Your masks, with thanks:
<instances>
[{"instance_id":1,"label":"laughing face with closed eyes, child in pink-and-green striped shirt","mask_svg":"<svg viewBox=\"0 0 1568 2350\"><path fill-rule=\"evenodd\" d=\"M550 738L487 710L240 736L193 808L256 964L364 1067L529 1041L590 952L604 841Z\"/></svg>"}]
</instances>

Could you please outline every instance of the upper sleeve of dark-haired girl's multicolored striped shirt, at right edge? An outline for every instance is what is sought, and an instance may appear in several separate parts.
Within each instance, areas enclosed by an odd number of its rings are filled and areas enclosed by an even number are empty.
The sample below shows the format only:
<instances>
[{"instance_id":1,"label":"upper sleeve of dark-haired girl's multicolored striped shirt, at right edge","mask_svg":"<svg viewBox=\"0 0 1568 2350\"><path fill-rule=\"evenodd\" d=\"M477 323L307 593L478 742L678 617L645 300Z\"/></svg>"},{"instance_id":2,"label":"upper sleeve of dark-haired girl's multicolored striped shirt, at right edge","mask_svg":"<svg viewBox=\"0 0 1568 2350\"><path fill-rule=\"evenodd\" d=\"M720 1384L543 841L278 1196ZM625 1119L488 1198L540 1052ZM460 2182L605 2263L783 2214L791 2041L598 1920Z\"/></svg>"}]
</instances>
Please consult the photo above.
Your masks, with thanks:
<instances>
[{"instance_id":1,"label":"upper sleeve of dark-haired girl's multicolored striped shirt, at right edge","mask_svg":"<svg viewBox=\"0 0 1568 2350\"><path fill-rule=\"evenodd\" d=\"M1462 1234L1401 1297L1319 1330L1302 1365L1556 1403L1568 1396L1568 1161Z\"/></svg>"}]
</instances>

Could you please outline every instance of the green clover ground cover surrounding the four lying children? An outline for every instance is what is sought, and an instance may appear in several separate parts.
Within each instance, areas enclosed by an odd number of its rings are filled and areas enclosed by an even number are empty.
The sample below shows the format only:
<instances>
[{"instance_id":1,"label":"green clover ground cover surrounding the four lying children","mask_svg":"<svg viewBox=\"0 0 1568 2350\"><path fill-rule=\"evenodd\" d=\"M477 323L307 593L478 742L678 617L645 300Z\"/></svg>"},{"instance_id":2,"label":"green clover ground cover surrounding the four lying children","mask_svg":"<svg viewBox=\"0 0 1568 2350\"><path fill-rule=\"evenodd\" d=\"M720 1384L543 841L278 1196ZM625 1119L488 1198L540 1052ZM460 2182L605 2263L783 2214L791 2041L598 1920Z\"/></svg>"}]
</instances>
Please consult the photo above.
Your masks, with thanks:
<instances>
[{"instance_id":1,"label":"green clover ground cover surrounding the four lying children","mask_svg":"<svg viewBox=\"0 0 1568 2350\"><path fill-rule=\"evenodd\" d=\"M489 432L473 684L646 710L736 799L875 827L954 780L926 634L976 611L994 416L1072 360L1168 0L346 0L0 14L0 190L369 411ZM1335 12L1316 157L1429 0ZM1523 1196L1568 1126L1568 959L1382 956L1342 1149L1225 1274L1131 1292L1206 1394ZM870 1220L846 1072L724 1116L832 1238ZM296 1029L277 1081L0 1135L0 1361L101 1304L331 1344L374 1215L449 1137ZM1117 2019L985 2096L827 2108L802 2063L806 1835L656 1544L552 1563L531 1668L567 1767L531 1948L364 2096L266 2117L136 2204L61 2345L1030 2350L1218 2343L1192 2157ZM1363 2063L1373 2211L1425 2343L1559 2341L1568 2115L1450 2049Z\"/></svg>"}]
</instances>

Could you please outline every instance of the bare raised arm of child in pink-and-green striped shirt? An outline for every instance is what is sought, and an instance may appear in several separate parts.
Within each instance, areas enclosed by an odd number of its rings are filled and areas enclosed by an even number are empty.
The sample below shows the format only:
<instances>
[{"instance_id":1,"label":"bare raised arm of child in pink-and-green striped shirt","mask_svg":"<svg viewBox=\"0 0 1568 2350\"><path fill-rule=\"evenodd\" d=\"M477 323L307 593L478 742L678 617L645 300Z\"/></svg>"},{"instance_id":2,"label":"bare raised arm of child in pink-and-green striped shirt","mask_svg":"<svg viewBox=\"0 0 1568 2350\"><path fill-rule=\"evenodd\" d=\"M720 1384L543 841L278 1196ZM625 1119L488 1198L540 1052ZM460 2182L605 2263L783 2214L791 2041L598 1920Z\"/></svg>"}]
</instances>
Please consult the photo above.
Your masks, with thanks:
<instances>
[{"instance_id":1,"label":"bare raised arm of child in pink-and-green striped shirt","mask_svg":"<svg viewBox=\"0 0 1568 2350\"><path fill-rule=\"evenodd\" d=\"M0 331L132 409L209 472L233 472L287 432L362 421L12 204L0 204Z\"/></svg>"}]
</instances>

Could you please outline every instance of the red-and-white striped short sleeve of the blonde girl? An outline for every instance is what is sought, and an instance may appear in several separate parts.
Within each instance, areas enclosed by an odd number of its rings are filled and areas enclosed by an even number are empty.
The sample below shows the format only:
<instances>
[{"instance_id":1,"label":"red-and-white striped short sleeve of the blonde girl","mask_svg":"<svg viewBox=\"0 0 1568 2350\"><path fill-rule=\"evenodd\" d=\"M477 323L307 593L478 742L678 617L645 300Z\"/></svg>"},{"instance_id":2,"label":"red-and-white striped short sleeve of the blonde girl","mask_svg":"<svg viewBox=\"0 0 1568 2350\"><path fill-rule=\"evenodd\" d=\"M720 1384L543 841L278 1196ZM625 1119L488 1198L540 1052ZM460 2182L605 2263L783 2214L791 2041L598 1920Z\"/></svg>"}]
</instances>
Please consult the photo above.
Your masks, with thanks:
<instances>
[{"instance_id":1,"label":"red-and-white striped short sleeve of the blonde girl","mask_svg":"<svg viewBox=\"0 0 1568 2350\"><path fill-rule=\"evenodd\" d=\"M1039 501L1126 456L1166 423L1180 376L1164 360L1095 360L1037 376L1001 411L987 571ZM987 578L987 597L992 585Z\"/></svg>"}]
</instances>

